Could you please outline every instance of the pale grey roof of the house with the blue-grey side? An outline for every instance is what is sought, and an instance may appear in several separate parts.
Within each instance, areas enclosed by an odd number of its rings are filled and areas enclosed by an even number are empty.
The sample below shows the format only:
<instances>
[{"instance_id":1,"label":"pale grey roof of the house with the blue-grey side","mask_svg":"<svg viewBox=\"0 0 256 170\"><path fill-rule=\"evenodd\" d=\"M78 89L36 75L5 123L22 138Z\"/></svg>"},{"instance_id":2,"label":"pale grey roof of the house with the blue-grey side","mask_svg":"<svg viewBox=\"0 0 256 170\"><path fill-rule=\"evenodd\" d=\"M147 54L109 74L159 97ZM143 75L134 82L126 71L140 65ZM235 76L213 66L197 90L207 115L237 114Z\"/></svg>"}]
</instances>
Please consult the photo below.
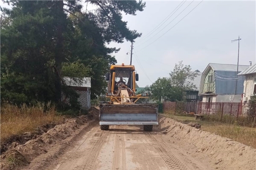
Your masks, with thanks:
<instances>
[{"instance_id":1,"label":"pale grey roof of the house with the blue-grey side","mask_svg":"<svg viewBox=\"0 0 256 170\"><path fill-rule=\"evenodd\" d=\"M236 64L216 64L216 63L210 63L209 64L211 68L213 68L215 71L243 71L247 69L249 66L246 65L236 65Z\"/></svg>"}]
</instances>

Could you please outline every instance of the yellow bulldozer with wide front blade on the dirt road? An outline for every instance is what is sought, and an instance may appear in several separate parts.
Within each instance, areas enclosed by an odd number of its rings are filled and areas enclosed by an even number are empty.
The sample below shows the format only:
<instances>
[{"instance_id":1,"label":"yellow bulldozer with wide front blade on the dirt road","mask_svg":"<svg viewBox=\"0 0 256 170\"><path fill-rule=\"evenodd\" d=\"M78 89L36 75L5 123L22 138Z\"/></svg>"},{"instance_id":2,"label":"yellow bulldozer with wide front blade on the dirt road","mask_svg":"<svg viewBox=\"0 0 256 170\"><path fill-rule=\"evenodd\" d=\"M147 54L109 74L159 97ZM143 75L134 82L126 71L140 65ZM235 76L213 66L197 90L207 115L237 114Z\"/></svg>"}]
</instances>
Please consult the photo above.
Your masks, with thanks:
<instances>
[{"instance_id":1,"label":"yellow bulldozer with wide front blade on the dirt road","mask_svg":"<svg viewBox=\"0 0 256 170\"><path fill-rule=\"evenodd\" d=\"M138 103L148 96L136 93L138 74L133 65L111 65L106 80L109 100L99 104L101 130L110 125L141 125L152 131L153 125L158 125L158 105Z\"/></svg>"}]
</instances>

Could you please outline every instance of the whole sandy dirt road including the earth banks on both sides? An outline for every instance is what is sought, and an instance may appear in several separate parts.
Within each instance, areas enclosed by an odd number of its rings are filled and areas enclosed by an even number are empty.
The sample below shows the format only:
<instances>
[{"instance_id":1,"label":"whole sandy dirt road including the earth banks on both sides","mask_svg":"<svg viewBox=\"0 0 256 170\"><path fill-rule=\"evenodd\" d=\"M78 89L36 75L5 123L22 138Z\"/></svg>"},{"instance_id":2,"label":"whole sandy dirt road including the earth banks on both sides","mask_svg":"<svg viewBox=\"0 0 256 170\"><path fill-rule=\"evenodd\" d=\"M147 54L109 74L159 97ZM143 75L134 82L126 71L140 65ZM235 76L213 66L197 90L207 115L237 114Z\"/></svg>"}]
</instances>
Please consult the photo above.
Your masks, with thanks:
<instances>
[{"instance_id":1,"label":"whole sandy dirt road including the earth banks on both sides","mask_svg":"<svg viewBox=\"0 0 256 170\"><path fill-rule=\"evenodd\" d=\"M231 139L163 116L153 132L139 126L102 131L98 113L94 108L25 144L12 144L1 155L1 169L256 170L256 149Z\"/></svg>"}]
</instances>

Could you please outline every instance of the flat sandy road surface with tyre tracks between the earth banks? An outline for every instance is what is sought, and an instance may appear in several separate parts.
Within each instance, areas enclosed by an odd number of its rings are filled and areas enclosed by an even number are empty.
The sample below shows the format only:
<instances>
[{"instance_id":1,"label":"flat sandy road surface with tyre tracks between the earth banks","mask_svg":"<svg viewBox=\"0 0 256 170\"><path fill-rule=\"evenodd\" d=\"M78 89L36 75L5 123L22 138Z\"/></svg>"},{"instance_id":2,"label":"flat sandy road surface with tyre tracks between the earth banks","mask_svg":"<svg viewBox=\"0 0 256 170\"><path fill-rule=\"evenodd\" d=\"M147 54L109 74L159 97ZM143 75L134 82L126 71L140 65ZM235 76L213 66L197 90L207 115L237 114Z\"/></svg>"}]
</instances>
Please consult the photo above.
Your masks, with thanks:
<instances>
[{"instance_id":1,"label":"flat sandy road surface with tyre tracks between the earth banks","mask_svg":"<svg viewBox=\"0 0 256 170\"><path fill-rule=\"evenodd\" d=\"M163 133L137 126L95 125L49 170L212 170L165 139Z\"/></svg>"}]
</instances>

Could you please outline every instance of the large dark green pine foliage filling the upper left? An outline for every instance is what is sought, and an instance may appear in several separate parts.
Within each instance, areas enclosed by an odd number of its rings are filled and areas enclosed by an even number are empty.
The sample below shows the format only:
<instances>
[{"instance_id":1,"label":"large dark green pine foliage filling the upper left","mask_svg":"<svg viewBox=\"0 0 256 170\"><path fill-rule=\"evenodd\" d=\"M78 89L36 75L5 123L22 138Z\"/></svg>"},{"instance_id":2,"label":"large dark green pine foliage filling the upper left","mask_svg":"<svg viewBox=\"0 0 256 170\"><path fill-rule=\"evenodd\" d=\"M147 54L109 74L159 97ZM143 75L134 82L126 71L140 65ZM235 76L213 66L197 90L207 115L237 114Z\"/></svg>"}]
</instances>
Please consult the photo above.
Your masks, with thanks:
<instances>
[{"instance_id":1,"label":"large dark green pine foliage filling the upper left","mask_svg":"<svg viewBox=\"0 0 256 170\"><path fill-rule=\"evenodd\" d=\"M145 3L95 0L89 3L97 10L82 12L81 2L14 0L12 9L1 9L2 101L60 103L66 93L75 103L64 76L91 77L92 99L105 93L104 75L116 63L111 54L119 51L105 44L141 35L122 21L122 12L136 15Z\"/></svg>"}]
</instances>

